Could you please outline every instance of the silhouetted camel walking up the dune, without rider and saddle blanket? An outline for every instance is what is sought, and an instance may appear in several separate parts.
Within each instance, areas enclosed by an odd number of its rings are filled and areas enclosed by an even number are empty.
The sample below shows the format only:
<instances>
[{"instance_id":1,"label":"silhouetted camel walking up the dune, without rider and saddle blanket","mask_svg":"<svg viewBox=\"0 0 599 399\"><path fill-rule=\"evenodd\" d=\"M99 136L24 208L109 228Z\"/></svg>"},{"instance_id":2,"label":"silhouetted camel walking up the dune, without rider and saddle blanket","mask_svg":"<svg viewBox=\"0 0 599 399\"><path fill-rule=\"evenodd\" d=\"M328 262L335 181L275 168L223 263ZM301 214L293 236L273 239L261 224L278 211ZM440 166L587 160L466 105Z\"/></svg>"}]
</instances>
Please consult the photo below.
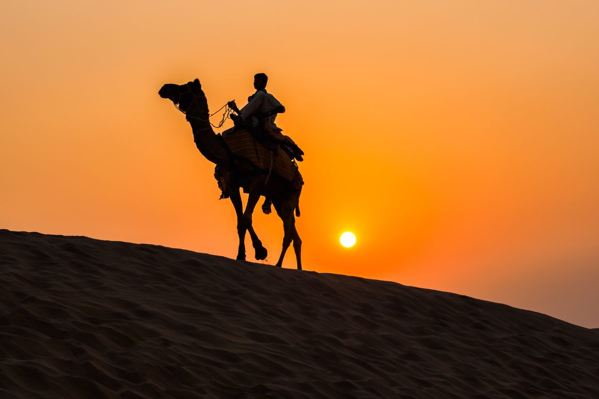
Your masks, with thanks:
<instances>
[{"instance_id":1,"label":"silhouetted camel walking up the dune, without rider and saddle blanket","mask_svg":"<svg viewBox=\"0 0 599 399\"><path fill-rule=\"evenodd\" d=\"M208 161L216 164L223 175L226 194L229 195L235 208L235 214L237 214L237 235L239 236L237 260L246 260L244 242L246 232L249 232L252 238L256 260L264 260L267 257L268 251L262 245L252 226L252 214L256 203L261 196L265 196L272 200L277 215L283 221L283 248L275 266L283 266L285 252L293 242L297 268L301 270L301 239L295 228L294 215L295 211L299 217L301 187L295 189L291 182L276 173L271 173L267 178L267 173L263 170L243 173L238 170L225 141L212 130L208 120L210 115L208 102L198 79L181 85L165 84L158 94L162 98L171 100L181 112L186 114L186 120L192 128L193 141L199 152ZM243 188L244 193L249 194L245 211L243 211L241 202L240 188Z\"/></svg>"}]
</instances>

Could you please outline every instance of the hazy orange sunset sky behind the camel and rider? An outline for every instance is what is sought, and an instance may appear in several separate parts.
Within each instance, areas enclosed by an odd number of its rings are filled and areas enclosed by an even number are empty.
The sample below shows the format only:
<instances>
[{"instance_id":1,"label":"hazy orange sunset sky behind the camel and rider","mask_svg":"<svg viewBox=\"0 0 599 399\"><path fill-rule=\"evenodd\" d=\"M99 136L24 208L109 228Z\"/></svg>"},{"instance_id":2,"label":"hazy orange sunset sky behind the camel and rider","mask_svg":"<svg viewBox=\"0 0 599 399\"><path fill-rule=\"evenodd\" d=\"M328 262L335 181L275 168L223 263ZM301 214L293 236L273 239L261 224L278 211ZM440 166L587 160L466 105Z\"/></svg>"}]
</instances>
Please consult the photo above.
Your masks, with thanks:
<instances>
[{"instance_id":1,"label":"hazy orange sunset sky behind the camel and rider","mask_svg":"<svg viewBox=\"0 0 599 399\"><path fill-rule=\"evenodd\" d=\"M197 77L215 111L266 72L306 153L304 269L599 327L599 3L289 3L2 2L0 227L234 257L158 89ZM254 226L274 263L280 220Z\"/></svg>"}]
</instances>

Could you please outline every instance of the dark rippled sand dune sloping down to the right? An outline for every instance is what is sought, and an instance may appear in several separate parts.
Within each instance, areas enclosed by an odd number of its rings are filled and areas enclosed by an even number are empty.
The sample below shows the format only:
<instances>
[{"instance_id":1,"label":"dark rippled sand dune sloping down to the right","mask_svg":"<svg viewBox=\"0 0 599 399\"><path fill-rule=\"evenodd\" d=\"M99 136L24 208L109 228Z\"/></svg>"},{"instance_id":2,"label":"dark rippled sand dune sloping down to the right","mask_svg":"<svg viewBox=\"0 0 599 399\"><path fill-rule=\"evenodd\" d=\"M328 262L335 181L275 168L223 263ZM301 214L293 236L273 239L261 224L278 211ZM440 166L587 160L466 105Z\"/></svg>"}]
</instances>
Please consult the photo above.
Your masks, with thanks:
<instances>
[{"instance_id":1,"label":"dark rippled sand dune sloping down to the right","mask_svg":"<svg viewBox=\"0 0 599 399\"><path fill-rule=\"evenodd\" d=\"M599 398L597 329L456 294L8 230L0 281L2 398Z\"/></svg>"}]
</instances>

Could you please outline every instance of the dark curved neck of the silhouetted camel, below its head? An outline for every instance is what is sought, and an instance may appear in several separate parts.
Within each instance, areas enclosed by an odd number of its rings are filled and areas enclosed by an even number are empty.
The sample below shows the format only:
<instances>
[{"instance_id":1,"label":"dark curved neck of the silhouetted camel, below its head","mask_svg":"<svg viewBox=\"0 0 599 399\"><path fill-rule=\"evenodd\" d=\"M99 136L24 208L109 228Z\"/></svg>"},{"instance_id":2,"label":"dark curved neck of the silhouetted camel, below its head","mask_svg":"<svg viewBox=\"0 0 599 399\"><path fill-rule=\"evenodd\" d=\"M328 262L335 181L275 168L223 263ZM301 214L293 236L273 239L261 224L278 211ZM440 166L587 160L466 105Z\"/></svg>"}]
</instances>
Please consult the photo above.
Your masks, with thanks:
<instances>
[{"instance_id":1,"label":"dark curved neck of the silhouetted camel, below its head","mask_svg":"<svg viewBox=\"0 0 599 399\"><path fill-rule=\"evenodd\" d=\"M222 141L214 134L208 122L208 105L206 104L205 107L199 105L198 109L187 112L187 121L191 125L193 141L195 141L199 152L207 160L217 165L229 163L229 157Z\"/></svg>"}]
</instances>

